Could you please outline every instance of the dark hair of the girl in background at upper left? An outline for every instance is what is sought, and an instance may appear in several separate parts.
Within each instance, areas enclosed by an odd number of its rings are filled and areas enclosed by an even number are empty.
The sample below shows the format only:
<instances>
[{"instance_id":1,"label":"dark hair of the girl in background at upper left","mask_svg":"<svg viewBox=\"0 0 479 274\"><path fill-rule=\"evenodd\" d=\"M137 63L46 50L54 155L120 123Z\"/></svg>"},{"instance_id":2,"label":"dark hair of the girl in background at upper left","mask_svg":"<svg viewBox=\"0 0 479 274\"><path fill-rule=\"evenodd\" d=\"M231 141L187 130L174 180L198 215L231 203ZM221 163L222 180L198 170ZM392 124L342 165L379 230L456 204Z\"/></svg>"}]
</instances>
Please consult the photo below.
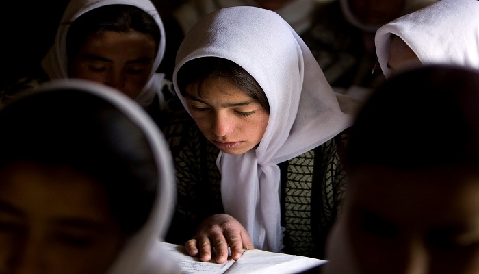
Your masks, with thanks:
<instances>
[{"instance_id":1,"label":"dark hair of the girl in background at upper left","mask_svg":"<svg viewBox=\"0 0 479 274\"><path fill-rule=\"evenodd\" d=\"M161 32L155 18L133 5L103 5L81 14L75 21L68 24L70 24L66 35L68 68L83 47L83 42L94 34L107 31L126 33L135 30L149 34L156 45L159 45L161 39Z\"/></svg>"}]
</instances>

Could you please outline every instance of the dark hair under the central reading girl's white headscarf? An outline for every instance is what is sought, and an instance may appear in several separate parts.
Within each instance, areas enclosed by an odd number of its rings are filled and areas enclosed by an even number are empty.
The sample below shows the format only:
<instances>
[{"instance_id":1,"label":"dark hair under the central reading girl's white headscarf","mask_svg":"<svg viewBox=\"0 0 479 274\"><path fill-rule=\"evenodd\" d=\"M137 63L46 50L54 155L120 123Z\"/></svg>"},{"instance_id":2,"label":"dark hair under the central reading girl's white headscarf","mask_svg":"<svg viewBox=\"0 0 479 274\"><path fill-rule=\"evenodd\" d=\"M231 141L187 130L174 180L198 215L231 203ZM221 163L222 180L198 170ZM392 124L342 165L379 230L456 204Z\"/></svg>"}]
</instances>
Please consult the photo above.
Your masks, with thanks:
<instances>
[{"instance_id":1,"label":"dark hair under the central reading girl's white headscarf","mask_svg":"<svg viewBox=\"0 0 479 274\"><path fill-rule=\"evenodd\" d=\"M226 77L246 95L258 100L267 112L270 112L268 98L258 82L248 71L230 60L218 57L202 57L183 64L177 73L177 83L181 95L186 96L185 88L198 83L198 95L201 96L203 81L208 78Z\"/></svg>"}]
</instances>

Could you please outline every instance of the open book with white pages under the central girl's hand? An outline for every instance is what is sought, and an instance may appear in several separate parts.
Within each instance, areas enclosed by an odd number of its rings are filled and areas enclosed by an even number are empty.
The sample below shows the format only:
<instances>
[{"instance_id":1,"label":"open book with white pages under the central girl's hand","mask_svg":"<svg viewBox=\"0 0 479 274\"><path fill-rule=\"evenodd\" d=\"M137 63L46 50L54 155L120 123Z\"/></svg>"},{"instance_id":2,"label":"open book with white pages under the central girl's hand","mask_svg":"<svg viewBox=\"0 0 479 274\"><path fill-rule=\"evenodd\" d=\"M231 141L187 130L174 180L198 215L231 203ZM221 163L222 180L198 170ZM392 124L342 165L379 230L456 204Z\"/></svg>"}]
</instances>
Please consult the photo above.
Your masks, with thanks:
<instances>
[{"instance_id":1,"label":"open book with white pages under the central girl's hand","mask_svg":"<svg viewBox=\"0 0 479 274\"><path fill-rule=\"evenodd\" d=\"M189 256L182 245L161 242L168 255L177 261L182 274L294 274L324 264L326 260L274 253L259 249L244 251L238 260L227 260L224 264L201 262Z\"/></svg>"}]
</instances>

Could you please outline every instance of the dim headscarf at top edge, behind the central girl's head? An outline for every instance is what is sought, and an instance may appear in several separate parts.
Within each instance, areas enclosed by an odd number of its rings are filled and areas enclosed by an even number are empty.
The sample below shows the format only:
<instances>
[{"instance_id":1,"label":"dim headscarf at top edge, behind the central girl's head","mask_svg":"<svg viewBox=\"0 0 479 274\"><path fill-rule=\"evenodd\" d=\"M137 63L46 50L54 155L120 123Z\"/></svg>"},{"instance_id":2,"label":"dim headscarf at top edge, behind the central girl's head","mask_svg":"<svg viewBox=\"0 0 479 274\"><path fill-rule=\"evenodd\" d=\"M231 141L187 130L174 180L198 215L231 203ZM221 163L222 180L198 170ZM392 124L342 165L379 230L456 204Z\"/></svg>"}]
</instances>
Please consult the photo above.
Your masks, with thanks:
<instances>
[{"instance_id":1,"label":"dim headscarf at top edge, behind the central girl's head","mask_svg":"<svg viewBox=\"0 0 479 274\"><path fill-rule=\"evenodd\" d=\"M274 12L281 15L298 34L302 34L311 26L315 2L316 0L292 0ZM190 0L177 8L174 16L186 33L194 23L210 12L243 5L258 7L255 0Z\"/></svg>"}]
</instances>

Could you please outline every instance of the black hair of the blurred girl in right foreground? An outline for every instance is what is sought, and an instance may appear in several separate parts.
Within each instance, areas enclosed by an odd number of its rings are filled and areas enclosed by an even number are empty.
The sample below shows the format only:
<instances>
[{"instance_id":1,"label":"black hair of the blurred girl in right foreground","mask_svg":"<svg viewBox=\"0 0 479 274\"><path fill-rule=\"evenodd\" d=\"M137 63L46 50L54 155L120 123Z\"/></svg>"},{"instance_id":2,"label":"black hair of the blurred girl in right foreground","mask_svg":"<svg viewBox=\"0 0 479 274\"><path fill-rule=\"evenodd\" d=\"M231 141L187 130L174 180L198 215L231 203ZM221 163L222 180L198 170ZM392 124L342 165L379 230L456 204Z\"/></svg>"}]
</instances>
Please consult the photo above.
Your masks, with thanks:
<instances>
[{"instance_id":1,"label":"black hair of the blurred girl in right foreground","mask_svg":"<svg viewBox=\"0 0 479 274\"><path fill-rule=\"evenodd\" d=\"M479 71L428 65L391 77L350 132L349 169L479 163Z\"/></svg>"}]
</instances>

